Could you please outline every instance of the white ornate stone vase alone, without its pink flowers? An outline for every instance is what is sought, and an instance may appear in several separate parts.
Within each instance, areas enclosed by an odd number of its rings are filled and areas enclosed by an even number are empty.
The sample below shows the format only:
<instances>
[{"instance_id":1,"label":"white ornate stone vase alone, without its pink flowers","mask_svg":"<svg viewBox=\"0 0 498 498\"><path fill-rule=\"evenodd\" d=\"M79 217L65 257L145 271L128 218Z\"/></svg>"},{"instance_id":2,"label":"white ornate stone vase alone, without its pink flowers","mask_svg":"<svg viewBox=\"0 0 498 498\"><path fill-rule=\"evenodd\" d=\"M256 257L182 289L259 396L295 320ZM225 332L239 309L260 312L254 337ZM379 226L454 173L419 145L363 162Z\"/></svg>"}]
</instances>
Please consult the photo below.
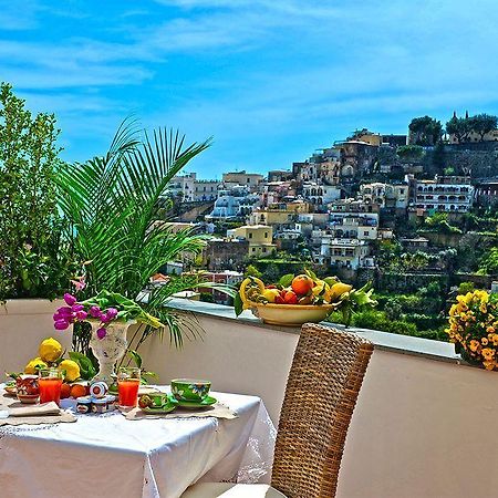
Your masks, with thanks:
<instances>
[{"instance_id":1,"label":"white ornate stone vase alone, without its pink flowers","mask_svg":"<svg viewBox=\"0 0 498 498\"><path fill-rule=\"evenodd\" d=\"M107 333L104 339L98 339L96 331L101 326L98 320L89 320L92 324L92 339L90 346L92 347L94 356L98 360L98 373L93 377L94 381L103 381L111 385L114 382L115 375L114 366L126 352L128 342L126 341L126 333L128 328L136 323L136 321L120 322L114 321L106 325Z\"/></svg>"}]
</instances>

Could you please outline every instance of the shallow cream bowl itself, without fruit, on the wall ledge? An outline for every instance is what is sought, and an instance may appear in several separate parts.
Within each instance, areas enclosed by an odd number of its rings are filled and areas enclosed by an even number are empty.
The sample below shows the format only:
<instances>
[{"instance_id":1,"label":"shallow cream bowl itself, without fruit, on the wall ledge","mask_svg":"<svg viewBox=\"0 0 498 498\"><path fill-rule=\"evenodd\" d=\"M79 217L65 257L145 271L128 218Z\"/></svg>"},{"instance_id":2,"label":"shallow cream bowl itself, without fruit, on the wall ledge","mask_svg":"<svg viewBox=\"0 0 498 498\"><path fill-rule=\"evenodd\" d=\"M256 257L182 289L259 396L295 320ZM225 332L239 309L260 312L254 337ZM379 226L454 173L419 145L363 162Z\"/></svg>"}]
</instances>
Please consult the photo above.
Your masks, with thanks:
<instances>
[{"instance_id":1,"label":"shallow cream bowl itself, without fruit, on the wall ledge","mask_svg":"<svg viewBox=\"0 0 498 498\"><path fill-rule=\"evenodd\" d=\"M301 326L324 320L335 304L274 304L255 303L252 313L270 325Z\"/></svg>"}]
</instances>

